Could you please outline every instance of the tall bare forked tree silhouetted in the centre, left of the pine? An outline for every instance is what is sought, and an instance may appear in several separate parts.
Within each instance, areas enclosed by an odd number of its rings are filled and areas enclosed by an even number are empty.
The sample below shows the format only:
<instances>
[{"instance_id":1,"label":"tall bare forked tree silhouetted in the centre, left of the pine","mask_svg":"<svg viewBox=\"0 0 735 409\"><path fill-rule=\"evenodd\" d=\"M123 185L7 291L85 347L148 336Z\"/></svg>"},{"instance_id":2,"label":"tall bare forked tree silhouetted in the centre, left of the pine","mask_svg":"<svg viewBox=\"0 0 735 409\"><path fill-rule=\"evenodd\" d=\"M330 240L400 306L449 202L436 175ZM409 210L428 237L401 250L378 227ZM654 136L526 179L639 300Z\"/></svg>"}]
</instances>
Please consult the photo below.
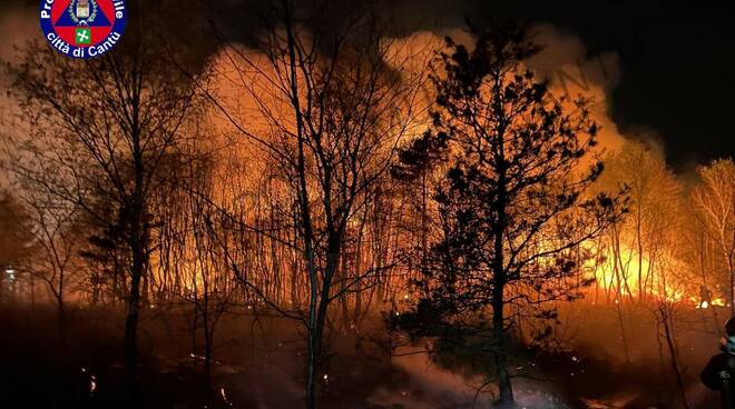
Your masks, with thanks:
<instances>
[{"instance_id":1,"label":"tall bare forked tree silhouetted in the centre, left of the pine","mask_svg":"<svg viewBox=\"0 0 735 409\"><path fill-rule=\"evenodd\" d=\"M231 265L261 302L304 325L306 402L314 408L330 306L389 267L347 276L341 265L349 235L356 230L351 225L359 222L388 174L396 141L413 124L422 77L404 69L409 57L383 41L370 7L362 14L343 14L329 2L303 7L284 0L272 11L266 30L254 40L258 54L236 47L224 51L239 76L238 87L254 101L255 119L242 120L223 102L218 106L242 136L267 153L292 200L305 308L277 306L243 266Z\"/></svg>"}]
</instances>

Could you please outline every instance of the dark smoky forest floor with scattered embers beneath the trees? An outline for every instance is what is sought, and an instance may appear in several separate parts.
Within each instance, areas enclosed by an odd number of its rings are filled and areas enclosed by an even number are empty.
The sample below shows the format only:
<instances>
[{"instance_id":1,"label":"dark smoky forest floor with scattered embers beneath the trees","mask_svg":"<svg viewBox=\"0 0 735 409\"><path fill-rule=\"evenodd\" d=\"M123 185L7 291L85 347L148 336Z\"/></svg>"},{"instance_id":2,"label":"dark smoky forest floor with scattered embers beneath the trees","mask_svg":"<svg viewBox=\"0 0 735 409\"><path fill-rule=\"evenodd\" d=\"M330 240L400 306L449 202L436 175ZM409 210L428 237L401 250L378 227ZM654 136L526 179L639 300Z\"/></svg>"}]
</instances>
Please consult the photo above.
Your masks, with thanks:
<instances>
[{"instance_id":1,"label":"dark smoky forest floor with scattered embers beneath the trees","mask_svg":"<svg viewBox=\"0 0 735 409\"><path fill-rule=\"evenodd\" d=\"M56 311L29 306L0 308L0 396L3 408L124 408L122 318L114 310L69 311L60 342ZM614 325L612 321L609 322ZM228 316L217 328L209 382L193 349L184 311L147 311L141 321L140 401L144 408L225 409L303 406L303 333L291 321ZM601 329L601 328L600 328ZM599 330L599 329L598 329ZM607 329L607 333L615 333ZM592 331L592 329L588 329ZM643 330L641 330L643 331ZM438 365L418 346L392 356L380 331L330 338L322 379L327 409L488 408L486 377L462 365ZM380 336L379 336L380 333ZM626 362L615 345L584 331L570 349L528 350L516 356L514 392L523 408L678 408L676 389L660 357L646 342L631 342ZM619 343L610 336L609 343ZM715 339L716 340L716 339ZM712 343L710 339L707 339ZM704 342L706 346L707 342ZM685 352L695 347L682 341ZM684 353L689 408L716 407L716 395L697 380L703 357ZM716 352L713 347L712 353ZM612 351L612 352L611 352ZM532 370L529 370L531 369ZM207 386L208 385L208 386ZM12 403L11 403L12 402ZM677 406L678 405L678 406Z\"/></svg>"}]
</instances>

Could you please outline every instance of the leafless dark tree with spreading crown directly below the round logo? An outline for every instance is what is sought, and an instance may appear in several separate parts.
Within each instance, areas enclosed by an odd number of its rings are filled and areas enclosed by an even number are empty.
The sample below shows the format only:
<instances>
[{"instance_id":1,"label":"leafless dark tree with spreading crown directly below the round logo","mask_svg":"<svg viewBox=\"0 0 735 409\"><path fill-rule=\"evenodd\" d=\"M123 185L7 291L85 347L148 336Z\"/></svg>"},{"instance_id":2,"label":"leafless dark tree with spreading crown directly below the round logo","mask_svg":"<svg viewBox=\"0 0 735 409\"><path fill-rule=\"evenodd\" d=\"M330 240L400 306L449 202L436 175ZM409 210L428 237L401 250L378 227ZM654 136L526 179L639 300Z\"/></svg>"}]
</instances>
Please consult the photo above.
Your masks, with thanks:
<instances>
[{"instance_id":1,"label":"leafless dark tree with spreading crown directly below the round logo","mask_svg":"<svg viewBox=\"0 0 735 409\"><path fill-rule=\"evenodd\" d=\"M115 231L124 243L126 369L136 406L141 282L155 250L153 198L171 171L164 159L197 101L188 79L166 58L161 27L130 7L133 29L115 51L77 61L37 44L9 73L31 124L30 134L14 137L13 171L79 207L91 231Z\"/></svg>"}]
</instances>

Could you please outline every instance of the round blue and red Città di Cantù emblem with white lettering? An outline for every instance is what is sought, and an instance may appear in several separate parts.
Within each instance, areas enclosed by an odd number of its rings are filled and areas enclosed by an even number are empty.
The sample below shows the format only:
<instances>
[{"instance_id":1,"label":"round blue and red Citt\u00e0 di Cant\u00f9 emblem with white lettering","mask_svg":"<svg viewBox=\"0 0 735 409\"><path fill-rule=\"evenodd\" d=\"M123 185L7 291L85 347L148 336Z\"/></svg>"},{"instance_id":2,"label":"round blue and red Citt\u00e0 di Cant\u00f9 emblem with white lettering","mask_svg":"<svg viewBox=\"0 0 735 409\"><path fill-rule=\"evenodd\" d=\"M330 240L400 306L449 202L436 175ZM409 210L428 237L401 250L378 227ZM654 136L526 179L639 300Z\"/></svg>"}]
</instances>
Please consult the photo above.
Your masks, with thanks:
<instances>
[{"instance_id":1,"label":"round blue and red Citt\u00e0 di Cant\u00f9 emblem with white lettering","mask_svg":"<svg viewBox=\"0 0 735 409\"><path fill-rule=\"evenodd\" d=\"M95 58L120 41L126 13L125 0L41 0L41 30L60 53Z\"/></svg>"}]
</instances>

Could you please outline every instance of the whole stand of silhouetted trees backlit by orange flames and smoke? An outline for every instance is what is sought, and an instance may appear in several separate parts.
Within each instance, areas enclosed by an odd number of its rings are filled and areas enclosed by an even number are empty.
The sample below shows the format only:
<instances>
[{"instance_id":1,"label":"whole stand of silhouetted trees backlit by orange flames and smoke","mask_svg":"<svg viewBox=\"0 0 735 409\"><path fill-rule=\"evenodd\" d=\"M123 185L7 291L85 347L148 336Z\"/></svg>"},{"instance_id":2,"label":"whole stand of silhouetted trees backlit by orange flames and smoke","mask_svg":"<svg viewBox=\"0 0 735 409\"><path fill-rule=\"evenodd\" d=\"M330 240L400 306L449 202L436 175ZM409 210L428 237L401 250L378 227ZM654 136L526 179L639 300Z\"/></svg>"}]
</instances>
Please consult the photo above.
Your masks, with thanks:
<instances>
[{"instance_id":1,"label":"whole stand of silhouetted trees backlit by orange flames and smoke","mask_svg":"<svg viewBox=\"0 0 735 409\"><path fill-rule=\"evenodd\" d=\"M7 64L0 303L53 305L59 348L84 337L69 310L122 313L128 407L154 312L184 311L205 379L227 317L284 319L307 408L329 403L334 335L366 332L471 353L512 407L513 351L565 350L565 311L606 308L624 360L656 342L687 406L682 317L716 340L735 316L733 159L678 176L653 141L600 149L589 98L526 64L543 44L522 23L412 43L369 11L293 8L203 64L153 29Z\"/></svg>"}]
</instances>

